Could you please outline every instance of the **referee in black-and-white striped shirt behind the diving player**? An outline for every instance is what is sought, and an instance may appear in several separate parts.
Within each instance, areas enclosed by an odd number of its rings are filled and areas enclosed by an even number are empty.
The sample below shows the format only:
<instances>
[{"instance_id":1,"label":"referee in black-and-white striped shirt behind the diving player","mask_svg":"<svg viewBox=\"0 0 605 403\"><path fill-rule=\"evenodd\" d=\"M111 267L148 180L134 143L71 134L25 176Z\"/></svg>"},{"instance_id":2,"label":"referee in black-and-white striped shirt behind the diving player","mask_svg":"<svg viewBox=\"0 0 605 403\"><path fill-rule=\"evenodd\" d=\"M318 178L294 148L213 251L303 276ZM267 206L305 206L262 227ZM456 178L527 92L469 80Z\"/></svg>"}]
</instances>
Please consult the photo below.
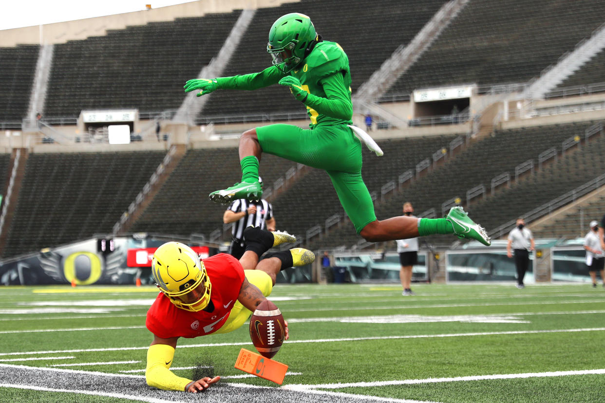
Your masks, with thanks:
<instances>
[{"instance_id":1,"label":"referee in black-and-white striped shirt behind the diving player","mask_svg":"<svg viewBox=\"0 0 605 403\"><path fill-rule=\"evenodd\" d=\"M263 179L258 177L258 181L263 183ZM225 224L233 223L231 230L231 247L229 254L240 259L246 250L244 245L244 230L247 227L260 227L261 230L275 231L275 218L273 218L273 206L265 199L259 201L247 201L246 199L237 199L231 202L223 214ZM266 227L266 228L265 228Z\"/></svg>"}]
</instances>

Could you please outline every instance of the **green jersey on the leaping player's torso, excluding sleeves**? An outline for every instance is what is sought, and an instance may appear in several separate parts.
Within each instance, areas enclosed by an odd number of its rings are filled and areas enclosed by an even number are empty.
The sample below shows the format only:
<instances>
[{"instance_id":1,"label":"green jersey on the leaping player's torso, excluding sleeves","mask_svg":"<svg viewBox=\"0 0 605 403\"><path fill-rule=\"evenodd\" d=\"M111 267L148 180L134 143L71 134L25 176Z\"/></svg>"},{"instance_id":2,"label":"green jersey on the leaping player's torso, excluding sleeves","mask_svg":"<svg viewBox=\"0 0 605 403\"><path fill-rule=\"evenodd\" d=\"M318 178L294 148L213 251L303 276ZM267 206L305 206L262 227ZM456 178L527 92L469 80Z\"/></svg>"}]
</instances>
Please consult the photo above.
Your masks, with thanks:
<instances>
[{"instance_id":1,"label":"green jersey on the leaping player's torso, excluding sleeves","mask_svg":"<svg viewBox=\"0 0 605 403\"><path fill-rule=\"evenodd\" d=\"M351 102L351 72L348 67L348 57L336 42L319 42L298 68L290 71L293 77L300 80L302 89L320 98L327 98L321 81L335 73L342 74L346 91L344 94L339 94L339 98L345 99L350 104L350 108L353 108ZM309 105L307 105L307 114L311 119L311 128L316 125L352 123L350 119L345 120L321 114Z\"/></svg>"}]
</instances>

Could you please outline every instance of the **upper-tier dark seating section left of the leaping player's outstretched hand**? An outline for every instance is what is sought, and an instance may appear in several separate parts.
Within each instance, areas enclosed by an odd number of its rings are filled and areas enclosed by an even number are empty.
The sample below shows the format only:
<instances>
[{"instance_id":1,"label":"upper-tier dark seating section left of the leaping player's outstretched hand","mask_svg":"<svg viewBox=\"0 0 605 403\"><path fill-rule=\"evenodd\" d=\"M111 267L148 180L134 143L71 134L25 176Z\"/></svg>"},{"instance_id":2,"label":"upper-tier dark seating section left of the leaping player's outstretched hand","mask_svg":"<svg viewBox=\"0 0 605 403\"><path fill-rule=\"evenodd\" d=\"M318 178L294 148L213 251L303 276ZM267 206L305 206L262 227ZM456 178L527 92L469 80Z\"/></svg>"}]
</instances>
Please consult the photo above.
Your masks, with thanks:
<instances>
[{"instance_id":1,"label":"upper-tier dark seating section left of the leaping player's outstretched hand","mask_svg":"<svg viewBox=\"0 0 605 403\"><path fill-rule=\"evenodd\" d=\"M185 81L216 56L240 13L152 22L56 45L45 117L77 117L81 109L177 109Z\"/></svg>"}]
</instances>

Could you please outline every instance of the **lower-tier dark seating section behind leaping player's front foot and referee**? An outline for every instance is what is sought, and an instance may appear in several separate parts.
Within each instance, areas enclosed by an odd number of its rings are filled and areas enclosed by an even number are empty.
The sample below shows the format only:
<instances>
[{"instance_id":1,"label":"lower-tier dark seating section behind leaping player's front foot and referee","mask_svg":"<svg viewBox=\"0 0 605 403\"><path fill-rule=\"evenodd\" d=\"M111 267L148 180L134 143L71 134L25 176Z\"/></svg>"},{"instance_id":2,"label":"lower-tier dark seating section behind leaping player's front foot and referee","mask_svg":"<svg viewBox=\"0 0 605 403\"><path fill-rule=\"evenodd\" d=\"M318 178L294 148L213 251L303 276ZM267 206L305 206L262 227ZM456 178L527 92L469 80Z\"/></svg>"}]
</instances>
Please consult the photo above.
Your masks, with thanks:
<instances>
[{"instance_id":1,"label":"lower-tier dark seating section behind leaping player's front foot and referee","mask_svg":"<svg viewBox=\"0 0 605 403\"><path fill-rule=\"evenodd\" d=\"M295 167L292 161L263 155L260 174L264 189L273 188L273 182ZM208 236L223 227L223 213L227 208L210 202L208 194L240 179L241 168L234 147L189 150L131 230ZM289 209L276 210L280 228L287 211Z\"/></svg>"}]
</instances>

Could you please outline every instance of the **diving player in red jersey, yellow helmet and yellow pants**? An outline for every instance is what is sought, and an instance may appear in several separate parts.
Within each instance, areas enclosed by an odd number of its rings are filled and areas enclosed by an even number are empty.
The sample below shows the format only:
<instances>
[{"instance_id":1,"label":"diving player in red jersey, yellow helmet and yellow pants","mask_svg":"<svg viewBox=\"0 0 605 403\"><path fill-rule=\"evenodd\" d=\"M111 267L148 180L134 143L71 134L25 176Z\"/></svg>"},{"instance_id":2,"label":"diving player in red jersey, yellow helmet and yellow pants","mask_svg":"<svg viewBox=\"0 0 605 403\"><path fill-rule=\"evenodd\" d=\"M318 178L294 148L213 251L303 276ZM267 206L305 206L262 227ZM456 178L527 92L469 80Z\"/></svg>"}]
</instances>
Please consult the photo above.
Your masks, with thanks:
<instances>
[{"instance_id":1,"label":"diving player in red jersey, yellow helmet and yellow pants","mask_svg":"<svg viewBox=\"0 0 605 403\"><path fill-rule=\"evenodd\" d=\"M259 262L269 248L295 238L249 227L244 239L246 251L240 260L224 253L200 259L191 248L178 242L164 243L155 251L151 272L162 292L149 308L145 323L154 334L145 370L149 386L197 393L217 382L220 376L191 380L169 370L178 338L238 329L271 294L281 269L315 260L313 252L293 248L267 254ZM286 340L288 337L286 323Z\"/></svg>"}]
</instances>

